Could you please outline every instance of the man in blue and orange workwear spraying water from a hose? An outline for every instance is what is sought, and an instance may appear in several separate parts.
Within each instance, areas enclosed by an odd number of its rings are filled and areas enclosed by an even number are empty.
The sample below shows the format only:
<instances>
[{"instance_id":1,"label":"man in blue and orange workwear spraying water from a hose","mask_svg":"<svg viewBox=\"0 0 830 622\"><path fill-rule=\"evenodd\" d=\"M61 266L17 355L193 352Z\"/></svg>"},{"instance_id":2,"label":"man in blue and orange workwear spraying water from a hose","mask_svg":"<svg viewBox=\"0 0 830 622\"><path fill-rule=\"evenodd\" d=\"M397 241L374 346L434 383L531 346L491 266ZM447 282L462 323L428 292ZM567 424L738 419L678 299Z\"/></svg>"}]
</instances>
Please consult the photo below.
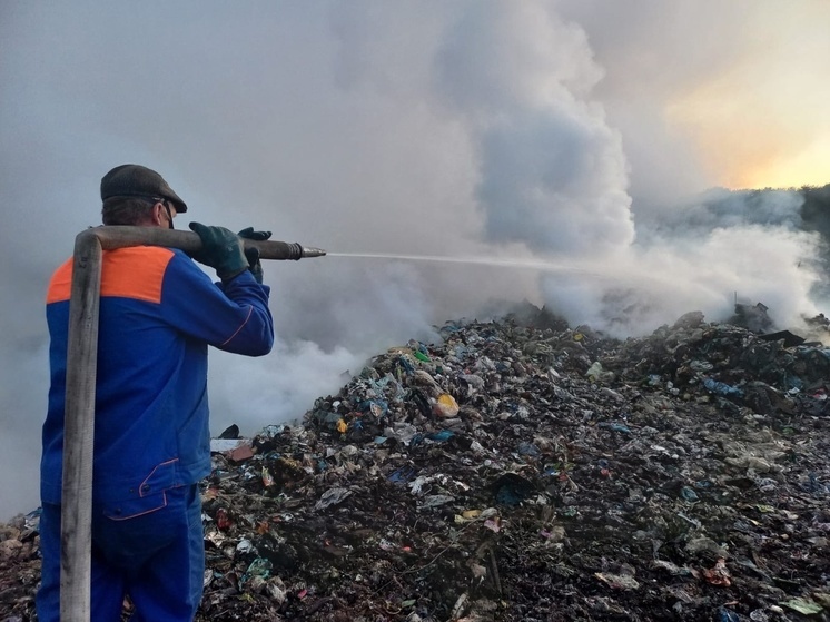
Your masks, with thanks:
<instances>
[{"instance_id":1,"label":"man in blue and orange workwear spraying water from a hose","mask_svg":"<svg viewBox=\"0 0 830 622\"><path fill-rule=\"evenodd\" d=\"M187 205L156 171L137 165L101 180L105 225L172 227ZM182 250L107 250L96 382L91 615L118 621L125 595L134 620L190 621L205 559L197 483L210 472L207 346L260 356L274 344L269 288L258 254L237 234L191 223L202 243ZM267 239L268 231L240 235ZM47 295L51 387L41 460L42 583L38 620L60 613L60 502L72 260Z\"/></svg>"}]
</instances>

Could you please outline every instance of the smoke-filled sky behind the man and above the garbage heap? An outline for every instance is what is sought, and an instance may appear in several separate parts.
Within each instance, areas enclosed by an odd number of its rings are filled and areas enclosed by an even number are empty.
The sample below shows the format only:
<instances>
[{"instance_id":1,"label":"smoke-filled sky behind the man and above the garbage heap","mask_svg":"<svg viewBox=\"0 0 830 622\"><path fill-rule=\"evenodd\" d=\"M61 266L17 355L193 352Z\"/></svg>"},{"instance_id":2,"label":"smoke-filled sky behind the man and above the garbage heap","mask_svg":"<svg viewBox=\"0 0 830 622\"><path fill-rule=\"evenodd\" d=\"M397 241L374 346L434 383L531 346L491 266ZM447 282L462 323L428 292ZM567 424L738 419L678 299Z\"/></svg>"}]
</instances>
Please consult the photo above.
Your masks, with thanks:
<instances>
[{"instance_id":1,"label":"smoke-filled sky behind the man and above the garbage heap","mask_svg":"<svg viewBox=\"0 0 830 622\"><path fill-rule=\"evenodd\" d=\"M798 195L740 190L830 182L828 23L824 0L0 2L0 520L39 504L45 290L110 168L161 172L179 228L333 254L265 266L278 343L211 353L216 434L501 302L626 336L740 296L796 326L827 308L823 240Z\"/></svg>"}]
</instances>

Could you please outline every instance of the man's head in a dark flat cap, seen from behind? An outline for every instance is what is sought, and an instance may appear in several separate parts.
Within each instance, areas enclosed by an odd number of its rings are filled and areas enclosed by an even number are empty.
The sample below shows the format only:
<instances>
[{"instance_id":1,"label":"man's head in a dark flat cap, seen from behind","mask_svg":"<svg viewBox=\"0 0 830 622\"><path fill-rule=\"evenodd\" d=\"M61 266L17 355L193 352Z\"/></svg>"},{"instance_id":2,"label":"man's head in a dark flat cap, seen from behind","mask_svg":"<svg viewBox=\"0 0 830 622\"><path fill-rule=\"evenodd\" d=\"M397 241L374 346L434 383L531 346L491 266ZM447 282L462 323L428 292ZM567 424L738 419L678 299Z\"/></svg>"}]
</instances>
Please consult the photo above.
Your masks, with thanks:
<instances>
[{"instance_id":1,"label":"man's head in a dark flat cap, seen from behind","mask_svg":"<svg viewBox=\"0 0 830 622\"><path fill-rule=\"evenodd\" d=\"M155 170L139 165L121 165L101 179L101 209L105 225L168 226L187 204ZM165 225L165 220L167 224Z\"/></svg>"}]
</instances>

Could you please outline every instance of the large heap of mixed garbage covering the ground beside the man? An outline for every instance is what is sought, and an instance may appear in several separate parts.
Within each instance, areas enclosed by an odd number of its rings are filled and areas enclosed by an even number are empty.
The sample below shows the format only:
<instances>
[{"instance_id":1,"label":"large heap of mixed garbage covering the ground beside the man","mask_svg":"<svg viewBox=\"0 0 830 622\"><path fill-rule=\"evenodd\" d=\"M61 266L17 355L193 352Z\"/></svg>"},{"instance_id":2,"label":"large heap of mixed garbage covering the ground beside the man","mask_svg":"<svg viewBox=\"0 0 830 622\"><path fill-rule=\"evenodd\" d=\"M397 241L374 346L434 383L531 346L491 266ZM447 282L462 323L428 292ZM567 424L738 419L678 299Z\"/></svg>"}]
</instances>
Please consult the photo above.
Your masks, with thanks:
<instances>
[{"instance_id":1,"label":"large heap of mixed garbage covering the ground beside the man","mask_svg":"<svg viewBox=\"0 0 830 622\"><path fill-rule=\"evenodd\" d=\"M439 334L214 441L197 620L830 619L830 349L700 313ZM0 620L32 619L24 519Z\"/></svg>"}]
</instances>

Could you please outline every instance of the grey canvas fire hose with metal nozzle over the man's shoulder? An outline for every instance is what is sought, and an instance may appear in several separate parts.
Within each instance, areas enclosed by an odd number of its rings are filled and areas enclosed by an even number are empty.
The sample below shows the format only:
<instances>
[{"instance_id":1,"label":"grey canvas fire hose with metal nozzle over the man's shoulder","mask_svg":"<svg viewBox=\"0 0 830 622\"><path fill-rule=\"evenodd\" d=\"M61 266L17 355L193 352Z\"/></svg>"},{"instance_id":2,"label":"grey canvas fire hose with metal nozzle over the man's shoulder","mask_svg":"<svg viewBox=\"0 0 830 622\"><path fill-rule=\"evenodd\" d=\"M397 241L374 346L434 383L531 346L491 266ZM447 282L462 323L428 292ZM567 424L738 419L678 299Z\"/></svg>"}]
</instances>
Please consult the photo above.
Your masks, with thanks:
<instances>
[{"instance_id":1,"label":"grey canvas fire hose with metal nozzle over the man's shoulder","mask_svg":"<svg viewBox=\"0 0 830 622\"><path fill-rule=\"evenodd\" d=\"M95 227L75 239L69 303L67 393L63 425L63 482L60 523L60 619L89 622L92 545L92 448L98 316L102 250L126 246L166 246L195 253L201 248L192 231L156 227ZM263 259L322 257L319 248L285 241L245 240Z\"/></svg>"}]
</instances>

